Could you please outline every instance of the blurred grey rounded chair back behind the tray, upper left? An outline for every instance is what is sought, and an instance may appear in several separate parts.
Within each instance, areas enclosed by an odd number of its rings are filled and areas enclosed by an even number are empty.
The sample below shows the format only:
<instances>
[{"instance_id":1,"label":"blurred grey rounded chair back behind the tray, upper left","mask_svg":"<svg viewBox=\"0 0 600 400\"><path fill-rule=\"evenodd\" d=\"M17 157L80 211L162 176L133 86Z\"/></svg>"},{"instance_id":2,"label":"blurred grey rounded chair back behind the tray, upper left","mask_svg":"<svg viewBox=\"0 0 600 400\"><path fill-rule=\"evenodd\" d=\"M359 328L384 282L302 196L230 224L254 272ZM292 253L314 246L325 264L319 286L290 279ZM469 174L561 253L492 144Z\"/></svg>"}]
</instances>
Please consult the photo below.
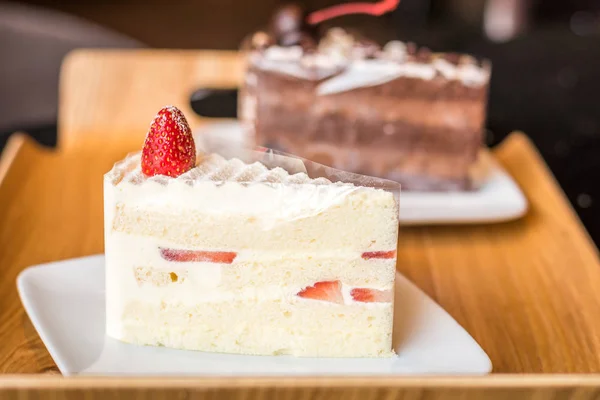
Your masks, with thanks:
<instances>
[{"instance_id":1,"label":"blurred grey rounded chair back behind the tray, upper left","mask_svg":"<svg viewBox=\"0 0 600 400\"><path fill-rule=\"evenodd\" d=\"M145 46L67 14L0 3L0 149L12 131L54 130L60 65L80 47Z\"/></svg>"}]
</instances>

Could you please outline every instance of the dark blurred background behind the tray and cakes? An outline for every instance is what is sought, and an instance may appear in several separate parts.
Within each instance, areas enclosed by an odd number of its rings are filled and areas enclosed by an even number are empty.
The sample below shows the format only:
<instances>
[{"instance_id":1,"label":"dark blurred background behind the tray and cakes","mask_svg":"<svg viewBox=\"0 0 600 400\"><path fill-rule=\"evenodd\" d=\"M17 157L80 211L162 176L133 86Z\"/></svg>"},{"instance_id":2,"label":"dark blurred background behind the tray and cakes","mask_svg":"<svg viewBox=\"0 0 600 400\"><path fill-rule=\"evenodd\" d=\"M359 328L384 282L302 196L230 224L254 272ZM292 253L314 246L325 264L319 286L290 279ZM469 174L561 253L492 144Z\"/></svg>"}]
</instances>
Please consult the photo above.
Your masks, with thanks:
<instances>
[{"instance_id":1,"label":"dark blurred background behind the tray and cakes","mask_svg":"<svg viewBox=\"0 0 600 400\"><path fill-rule=\"evenodd\" d=\"M343 0L307 0L317 10ZM0 1L0 147L56 142L60 61L77 47L236 49L276 0ZM488 144L525 131L600 243L600 0L402 0L332 21L384 42L492 60Z\"/></svg>"}]
</instances>

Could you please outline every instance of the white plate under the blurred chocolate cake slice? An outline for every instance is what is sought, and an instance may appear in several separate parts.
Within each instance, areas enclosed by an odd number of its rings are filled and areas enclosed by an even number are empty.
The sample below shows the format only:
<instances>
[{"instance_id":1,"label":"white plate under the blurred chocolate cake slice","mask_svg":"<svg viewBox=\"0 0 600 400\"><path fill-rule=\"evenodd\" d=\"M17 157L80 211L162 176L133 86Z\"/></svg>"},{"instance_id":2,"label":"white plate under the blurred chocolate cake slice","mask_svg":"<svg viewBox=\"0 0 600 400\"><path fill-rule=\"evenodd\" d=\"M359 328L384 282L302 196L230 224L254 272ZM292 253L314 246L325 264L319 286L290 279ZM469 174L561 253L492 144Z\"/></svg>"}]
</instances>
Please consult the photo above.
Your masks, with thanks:
<instances>
[{"instance_id":1,"label":"white plate under the blurred chocolate cake slice","mask_svg":"<svg viewBox=\"0 0 600 400\"><path fill-rule=\"evenodd\" d=\"M211 122L194 132L203 138L226 138L244 143L237 121ZM508 221L527 212L527 200L511 176L482 150L474 179L478 189L471 192L402 192L400 222L403 225L466 224Z\"/></svg>"}]
</instances>

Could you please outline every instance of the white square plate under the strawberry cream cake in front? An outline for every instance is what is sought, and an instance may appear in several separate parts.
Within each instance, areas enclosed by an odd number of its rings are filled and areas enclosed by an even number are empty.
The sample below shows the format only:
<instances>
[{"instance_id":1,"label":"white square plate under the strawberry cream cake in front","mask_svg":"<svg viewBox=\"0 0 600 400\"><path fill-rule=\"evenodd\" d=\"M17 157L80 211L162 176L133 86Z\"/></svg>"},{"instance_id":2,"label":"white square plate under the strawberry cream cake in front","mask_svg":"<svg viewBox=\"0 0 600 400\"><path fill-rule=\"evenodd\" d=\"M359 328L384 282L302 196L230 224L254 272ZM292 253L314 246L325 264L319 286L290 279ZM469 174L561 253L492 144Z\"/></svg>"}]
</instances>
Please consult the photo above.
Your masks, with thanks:
<instances>
[{"instance_id":1,"label":"white square plate under the strawberry cream cake in front","mask_svg":"<svg viewBox=\"0 0 600 400\"><path fill-rule=\"evenodd\" d=\"M104 256L24 270L21 301L64 375L487 374L490 359L456 321L400 274L393 358L244 356L145 347L104 334Z\"/></svg>"}]
</instances>

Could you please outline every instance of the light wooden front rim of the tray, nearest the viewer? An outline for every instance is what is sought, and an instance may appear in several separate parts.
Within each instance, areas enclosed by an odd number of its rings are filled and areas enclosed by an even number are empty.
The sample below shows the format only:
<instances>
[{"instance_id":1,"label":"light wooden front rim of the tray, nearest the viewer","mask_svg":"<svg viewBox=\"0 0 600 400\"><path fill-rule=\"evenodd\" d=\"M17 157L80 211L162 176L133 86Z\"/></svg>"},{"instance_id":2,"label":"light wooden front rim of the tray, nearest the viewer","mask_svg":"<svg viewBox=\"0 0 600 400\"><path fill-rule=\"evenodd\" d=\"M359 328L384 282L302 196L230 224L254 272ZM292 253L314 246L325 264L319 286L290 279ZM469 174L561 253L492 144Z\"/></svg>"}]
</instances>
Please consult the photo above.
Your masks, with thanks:
<instances>
[{"instance_id":1,"label":"light wooden front rim of the tray, nearest the viewer","mask_svg":"<svg viewBox=\"0 0 600 400\"><path fill-rule=\"evenodd\" d=\"M559 388L600 387L600 374L492 374L487 376L402 377L63 377L0 375L0 391L9 389L232 389L252 388Z\"/></svg>"}]
</instances>

